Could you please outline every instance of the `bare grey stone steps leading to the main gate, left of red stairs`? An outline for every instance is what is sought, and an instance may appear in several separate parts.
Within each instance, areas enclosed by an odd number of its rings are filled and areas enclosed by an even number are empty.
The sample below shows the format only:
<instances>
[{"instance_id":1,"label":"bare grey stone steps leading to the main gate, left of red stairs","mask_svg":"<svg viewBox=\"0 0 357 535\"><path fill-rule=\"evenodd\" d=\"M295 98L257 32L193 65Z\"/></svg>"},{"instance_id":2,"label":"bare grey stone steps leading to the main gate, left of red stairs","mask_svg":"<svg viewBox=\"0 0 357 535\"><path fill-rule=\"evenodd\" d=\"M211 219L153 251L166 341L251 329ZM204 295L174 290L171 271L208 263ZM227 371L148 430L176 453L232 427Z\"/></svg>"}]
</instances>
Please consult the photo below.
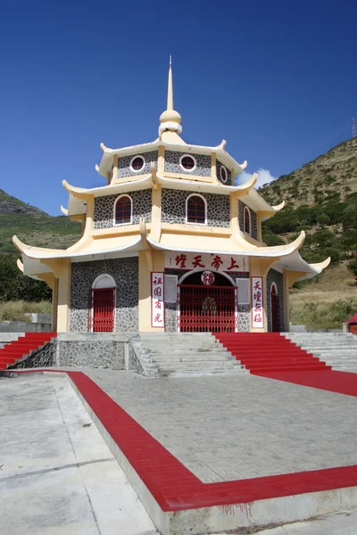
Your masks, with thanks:
<instances>
[{"instance_id":1,"label":"bare grey stone steps leading to the main gate, left of red stairs","mask_svg":"<svg viewBox=\"0 0 357 535\"><path fill-rule=\"evenodd\" d=\"M211 333L140 333L159 377L248 373Z\"/></svg>"}]
</instances>

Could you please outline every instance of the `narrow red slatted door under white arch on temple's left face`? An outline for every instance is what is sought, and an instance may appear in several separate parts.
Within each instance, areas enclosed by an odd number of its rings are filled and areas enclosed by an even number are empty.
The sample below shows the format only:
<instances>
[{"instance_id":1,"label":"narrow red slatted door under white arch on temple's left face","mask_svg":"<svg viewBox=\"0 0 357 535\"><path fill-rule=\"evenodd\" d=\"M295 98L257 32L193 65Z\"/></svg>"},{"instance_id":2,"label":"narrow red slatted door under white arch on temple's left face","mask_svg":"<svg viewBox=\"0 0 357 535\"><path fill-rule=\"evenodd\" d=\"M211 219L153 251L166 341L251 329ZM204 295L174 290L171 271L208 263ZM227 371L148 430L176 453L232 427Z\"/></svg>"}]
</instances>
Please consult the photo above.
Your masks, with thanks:
<instances>
[{"instance_id":1,"label":"narrow red slatted door under white arch on temple's left face","mask_svg":"<svg viewBox=\"0 0 357 535\"><path fill-rule=\"evenodd\" d=\"M100 288L91 291L92 331L94 333L112 333L114 330L115 288ZM88 322L89 323L89 322Z\"/></svg>"}]
</instances>

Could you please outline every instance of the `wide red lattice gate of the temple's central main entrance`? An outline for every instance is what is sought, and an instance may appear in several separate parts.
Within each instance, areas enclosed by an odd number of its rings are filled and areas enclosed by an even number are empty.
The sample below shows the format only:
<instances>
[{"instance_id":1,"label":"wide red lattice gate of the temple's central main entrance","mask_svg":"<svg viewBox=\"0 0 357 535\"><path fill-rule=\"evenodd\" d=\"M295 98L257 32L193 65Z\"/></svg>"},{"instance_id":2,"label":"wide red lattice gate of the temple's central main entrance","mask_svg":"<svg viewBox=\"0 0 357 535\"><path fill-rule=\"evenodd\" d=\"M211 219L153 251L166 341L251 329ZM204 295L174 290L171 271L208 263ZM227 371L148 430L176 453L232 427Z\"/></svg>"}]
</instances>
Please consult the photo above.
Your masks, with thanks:
<instances>
[{"instance_id":1,"label":"wide red lattice gate of the temple's central main entrance","mask_svg":"<svg viewBox=\"0 0 357 535\"><path fill-rule=\"evenodd\" d=\"M234 286L179 284L178 328L181 333L237 331L237 293Z\"/></svg>"}]
</instances>

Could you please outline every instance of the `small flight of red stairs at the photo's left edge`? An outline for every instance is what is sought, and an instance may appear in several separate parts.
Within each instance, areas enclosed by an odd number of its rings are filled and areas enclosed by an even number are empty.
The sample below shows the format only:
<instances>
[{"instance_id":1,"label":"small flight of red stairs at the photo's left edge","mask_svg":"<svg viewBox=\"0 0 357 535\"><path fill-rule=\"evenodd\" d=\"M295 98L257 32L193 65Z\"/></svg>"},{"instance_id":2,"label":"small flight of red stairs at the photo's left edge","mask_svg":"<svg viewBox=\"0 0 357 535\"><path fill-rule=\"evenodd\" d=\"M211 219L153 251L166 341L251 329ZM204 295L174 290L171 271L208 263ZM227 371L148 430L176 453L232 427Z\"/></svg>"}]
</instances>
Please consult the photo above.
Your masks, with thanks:
<instances>
[{"instance_id":1,"label":"small flight of red stairs at the photo's left edge","mask_svg":"<svg viewBox=\"0 0 357 535\"><path fill-rule=\"evenodd\" d=\"M56 333L25 333L18 340L5 344L0 349L0 370L12 366L19 360L29 357L31 351L38 350L55 338Z\"/></svg>"}]
</instances>

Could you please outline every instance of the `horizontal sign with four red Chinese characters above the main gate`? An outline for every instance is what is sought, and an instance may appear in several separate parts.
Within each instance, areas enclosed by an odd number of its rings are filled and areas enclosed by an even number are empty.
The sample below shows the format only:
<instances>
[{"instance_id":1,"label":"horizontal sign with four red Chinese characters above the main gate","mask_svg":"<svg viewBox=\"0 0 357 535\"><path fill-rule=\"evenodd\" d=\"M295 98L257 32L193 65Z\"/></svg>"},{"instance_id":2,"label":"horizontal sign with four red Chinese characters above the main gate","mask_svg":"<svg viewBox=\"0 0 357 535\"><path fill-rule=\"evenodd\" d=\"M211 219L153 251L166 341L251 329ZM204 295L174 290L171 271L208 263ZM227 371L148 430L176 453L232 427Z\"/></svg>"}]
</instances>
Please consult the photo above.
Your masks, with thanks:
<instances>
[{"instance_id":1,"label":"horizontal sign with four red Chinese characters above the main gate","mask_svg":"<svg viewBox=\"0 0 357 535\"><path fill-rule=\"evenodd\" d=\"M210 269L227 273L249 271L248 258L237 255L203 252L168 252L165 255L165 268L170 269Z\"/></svg>"}]
</instances>

